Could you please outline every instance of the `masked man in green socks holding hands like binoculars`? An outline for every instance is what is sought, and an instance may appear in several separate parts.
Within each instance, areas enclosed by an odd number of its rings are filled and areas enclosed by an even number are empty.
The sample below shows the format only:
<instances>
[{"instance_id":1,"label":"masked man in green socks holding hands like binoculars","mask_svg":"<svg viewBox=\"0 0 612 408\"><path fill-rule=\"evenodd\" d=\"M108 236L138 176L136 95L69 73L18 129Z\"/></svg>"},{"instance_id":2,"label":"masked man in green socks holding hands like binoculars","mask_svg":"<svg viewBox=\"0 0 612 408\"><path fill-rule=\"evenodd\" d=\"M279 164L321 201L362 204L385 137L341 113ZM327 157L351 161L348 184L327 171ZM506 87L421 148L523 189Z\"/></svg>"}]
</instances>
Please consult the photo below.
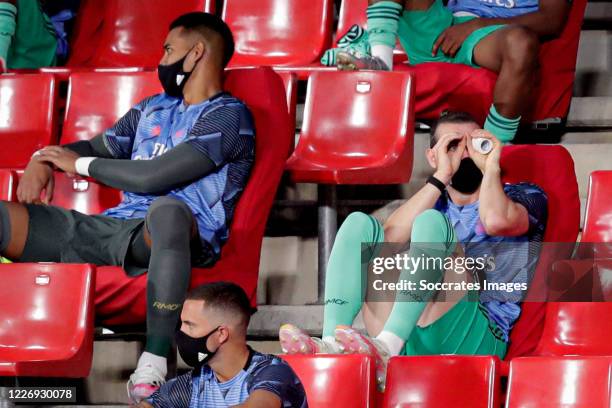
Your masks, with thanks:
<instances>
[{"instance_id":1,"label":"masked man in green socks holding hands like binoculars","mask_svg":"<svg viewBox=\"0 0 612 408\"><path fill-rule=\"evenodd\" d=\"M477 139L485 140L477 144ZM492 147L486 154L475 147L483 143ZM384 225L363 213L346 219L327 265L323 338L287 324L279 332L283 350L372 354L380 388L387 360L394 355L492 354L503 359L526 289L479 293L472 272L479 269L489 282L526 288L522 285L530 282L544 236L547 198L533 184L502 184L501 149L499 140L468 114L440 117L426 152L433 175ZM376 259L394 256L395 250L383 242L400 247L409 242L405 254L410 260L428 259L427 264L397 267L399 282L415 287L385 289L383 281L398 280L385 279L392 272L384 270L364 276ZM485 268L476 268L475 260L487 256L491 263L483 260ZM471 258L472 267L446 266L459 258ZM443 259L444 266L436 259ZM376 279L381 281L376 284ZM423 289L421 281L431 288ZM360 310L368 335L351 327Z\"/></svg>"}]
</instances>

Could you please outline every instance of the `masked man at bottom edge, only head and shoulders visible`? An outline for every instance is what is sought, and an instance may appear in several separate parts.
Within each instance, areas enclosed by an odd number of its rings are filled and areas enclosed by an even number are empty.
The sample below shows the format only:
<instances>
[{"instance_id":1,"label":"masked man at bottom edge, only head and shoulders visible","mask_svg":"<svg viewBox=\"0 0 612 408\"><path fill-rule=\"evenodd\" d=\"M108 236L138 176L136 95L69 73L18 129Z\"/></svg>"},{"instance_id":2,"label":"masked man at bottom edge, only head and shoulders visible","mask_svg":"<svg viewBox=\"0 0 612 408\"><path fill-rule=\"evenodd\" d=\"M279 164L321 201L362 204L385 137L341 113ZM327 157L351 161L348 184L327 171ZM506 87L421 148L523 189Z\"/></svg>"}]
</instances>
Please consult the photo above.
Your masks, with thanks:
<instances>
[{"instance_id":1,"label":"masked man at bottom edge, only head and shoulders visible","mask_svg":"<svg viewBox=\"0 0 612 408\"><path fill-rule=\"evenodd\" d=\"M247 345L252 308L244 290L227 282L202 285L187 296L176 344L193 370L142 401L147 408L307 408L291 367Z\"/></svg>"}]
</instances>

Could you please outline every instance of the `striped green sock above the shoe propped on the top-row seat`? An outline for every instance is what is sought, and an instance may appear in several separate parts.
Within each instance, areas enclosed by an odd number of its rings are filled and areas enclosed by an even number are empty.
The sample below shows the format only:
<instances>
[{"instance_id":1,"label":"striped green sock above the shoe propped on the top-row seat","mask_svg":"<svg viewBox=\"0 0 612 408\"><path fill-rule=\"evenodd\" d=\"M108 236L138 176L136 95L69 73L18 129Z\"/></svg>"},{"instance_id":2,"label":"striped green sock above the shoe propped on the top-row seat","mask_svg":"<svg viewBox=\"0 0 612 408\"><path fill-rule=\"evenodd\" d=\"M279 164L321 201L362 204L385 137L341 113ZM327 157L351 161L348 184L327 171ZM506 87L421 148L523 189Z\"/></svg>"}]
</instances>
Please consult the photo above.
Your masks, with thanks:
<instances>
[{"instance_id":1,"label":"striped green sock above the shoe propped on the top-row seat","mask_svg":"<svg viewBox=\"0 0 612 408\"><path fill-rule=\"evenodd\" d=\"M404 7L392 1L381 1L368 7L368 33L370 45L395 47L399 19Z\"/></svg>"}]
</instances>

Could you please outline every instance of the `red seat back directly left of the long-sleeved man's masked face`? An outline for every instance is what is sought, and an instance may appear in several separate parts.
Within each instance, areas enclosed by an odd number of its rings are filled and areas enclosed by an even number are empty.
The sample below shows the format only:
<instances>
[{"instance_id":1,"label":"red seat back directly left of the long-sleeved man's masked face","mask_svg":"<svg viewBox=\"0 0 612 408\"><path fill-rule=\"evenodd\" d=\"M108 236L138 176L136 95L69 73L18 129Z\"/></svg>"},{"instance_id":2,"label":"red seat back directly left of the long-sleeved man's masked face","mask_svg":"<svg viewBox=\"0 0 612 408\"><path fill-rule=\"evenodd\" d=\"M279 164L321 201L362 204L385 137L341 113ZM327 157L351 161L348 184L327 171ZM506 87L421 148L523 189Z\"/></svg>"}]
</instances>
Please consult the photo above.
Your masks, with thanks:
<instances>
[{"instance_id":1,"label":"red seat back directly left of the long-sleeved man's masked face","mask_svg":"<svg viewBox=\"0 0 612 408\"><path fill-rule=\"evenodd\" d=\"M162 92L153 71L80 72L70 75L60 142L89 140L144 98Z\"/></svg>"}]
</instances>

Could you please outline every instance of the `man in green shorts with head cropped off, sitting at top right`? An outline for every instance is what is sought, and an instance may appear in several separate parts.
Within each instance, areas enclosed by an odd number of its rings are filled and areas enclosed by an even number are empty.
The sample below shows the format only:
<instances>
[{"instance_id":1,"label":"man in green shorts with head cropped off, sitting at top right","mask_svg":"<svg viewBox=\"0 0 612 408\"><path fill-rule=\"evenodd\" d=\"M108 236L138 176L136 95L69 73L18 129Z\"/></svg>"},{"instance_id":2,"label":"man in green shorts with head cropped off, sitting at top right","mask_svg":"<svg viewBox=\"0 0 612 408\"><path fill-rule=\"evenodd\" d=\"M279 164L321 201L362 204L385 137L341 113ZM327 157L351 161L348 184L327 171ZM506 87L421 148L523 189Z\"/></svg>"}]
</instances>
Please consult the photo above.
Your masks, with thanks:
<instances>
[{"instance_id":1,"label":"man in green shorts with head cropped off, sitting at top right","mask_svg":"<svg viewBox=\"0 0 612 408\"><path fill-rule=\"evenodd\" d=\"M392 69L397 39L410 64L452 62L497 72L484 128L502 142L529 106L539 41L558 36L571 0L369 0L368 32L355 27L323 58L342 69ZM358 32L357 32L358 31Z\"/></svg>"}]
</instances>

